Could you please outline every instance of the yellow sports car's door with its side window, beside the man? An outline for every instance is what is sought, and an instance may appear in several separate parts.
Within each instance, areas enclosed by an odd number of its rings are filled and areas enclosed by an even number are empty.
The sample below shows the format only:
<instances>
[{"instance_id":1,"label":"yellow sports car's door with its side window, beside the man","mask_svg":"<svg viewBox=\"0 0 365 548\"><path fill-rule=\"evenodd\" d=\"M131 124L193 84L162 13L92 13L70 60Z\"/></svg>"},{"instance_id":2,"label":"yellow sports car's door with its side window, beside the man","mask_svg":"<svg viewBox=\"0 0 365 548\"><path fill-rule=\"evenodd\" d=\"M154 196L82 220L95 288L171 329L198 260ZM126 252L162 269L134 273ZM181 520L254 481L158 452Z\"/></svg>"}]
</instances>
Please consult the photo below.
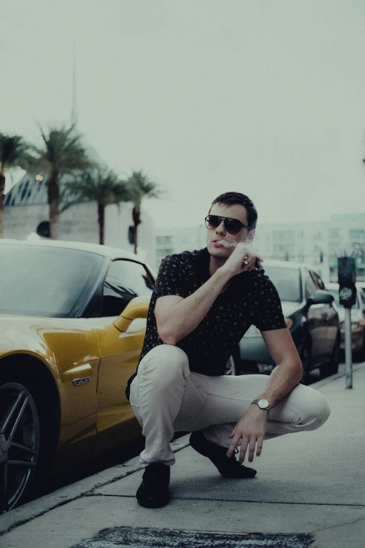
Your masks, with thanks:
<instances>
[{"instance_id":1,"label":"yellow sports car's door with its side window, beside the man","mask_svg":"<svg viewBox=\"0 0 365 548\"><path fill-rule=\"evenodd\" d=\"M110 263L103 283L101 314L105 327L96 330L101 353L97 445L109 444L116 437L139 428L124 391L138 364L146 321L134 320L124 333L118 331L113 322L131 299L150 296L153 284L152 276L140 262L114 260Z\"/></svg>"}]
</instances>

